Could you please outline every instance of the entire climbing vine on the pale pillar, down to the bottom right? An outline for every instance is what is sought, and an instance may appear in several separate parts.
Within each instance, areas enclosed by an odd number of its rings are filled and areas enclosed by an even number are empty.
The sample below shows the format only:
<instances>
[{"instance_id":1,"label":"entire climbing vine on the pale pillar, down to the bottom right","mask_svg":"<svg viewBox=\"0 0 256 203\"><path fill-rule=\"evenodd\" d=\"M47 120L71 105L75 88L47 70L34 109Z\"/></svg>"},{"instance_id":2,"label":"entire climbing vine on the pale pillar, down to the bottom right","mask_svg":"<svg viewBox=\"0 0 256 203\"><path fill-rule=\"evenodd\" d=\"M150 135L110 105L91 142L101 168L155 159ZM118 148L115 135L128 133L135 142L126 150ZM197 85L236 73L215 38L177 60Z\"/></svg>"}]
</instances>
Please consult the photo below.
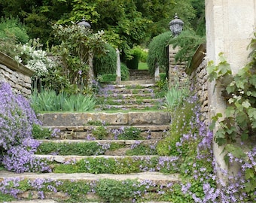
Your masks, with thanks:
<instances>
[{"instance_id":1,"label":"entire climbing vine on the pale pillar, down to the bottom right","mask_svg":"<svg viewBox=\"0 0 256 203\"><path fill-rule=\"evenodd\" d=\"M254 33L256 37L256 33ZM209 62L209 81L223 86L222 96L227 100L225 116L212 117L212 129L218 125L215 142L224 146L227 163L240 162L245 176L245 192L249 199L256 197L256 39L248 46L252 49L251 61L232 74L230 64L220 53L220 63ZM220 120L221 119L221 120Z\"/></svg>"}]
</instances>

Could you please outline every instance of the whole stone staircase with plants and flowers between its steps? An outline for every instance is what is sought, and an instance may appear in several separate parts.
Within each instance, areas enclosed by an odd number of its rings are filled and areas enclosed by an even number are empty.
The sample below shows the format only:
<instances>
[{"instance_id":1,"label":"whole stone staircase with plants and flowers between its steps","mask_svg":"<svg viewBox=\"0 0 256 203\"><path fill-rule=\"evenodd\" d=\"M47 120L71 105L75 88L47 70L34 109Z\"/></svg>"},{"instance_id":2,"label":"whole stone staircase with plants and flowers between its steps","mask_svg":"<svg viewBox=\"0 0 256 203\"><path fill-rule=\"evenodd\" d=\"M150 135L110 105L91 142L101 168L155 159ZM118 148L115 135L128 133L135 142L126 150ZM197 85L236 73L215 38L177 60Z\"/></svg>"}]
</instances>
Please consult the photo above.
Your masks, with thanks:
<instances>
[{"instance_id":1,"label":"whole stone staircase with plants and flowers between its steps","mask_svg":"<svg viewBox=\"0 0 256 203\"><path fill-rule=\"evenodd\" d=\"M35 155L38 159L46 159L53 172L14 174L1 171L0 179L68 181L69 186L75 182L91 187L84 193L75 188L80 196L75 200L68 194L70 191L44 192L44 201L51 199L50 202L160 202L159 194L181 181L179 157L158 156L156 150L157 142L169 129L170 116L160 108L162 100L155 96L159 89L154 83L136 80L142 77L132 78L133 85L102 86L96 95L95 112L40 114L38 118L43 126L60 130L55 138L41 140ZM101 180L105 181L107 189L113 186L111 180L123 184L128 180L136 181L146 192L136 195L136 190L133 191L134 199L118 201L117 196L109 198L108 194L105 198L94 188ZM23 200L39 197L35 191L18 195Z\"/></svg>"}]
</instances>

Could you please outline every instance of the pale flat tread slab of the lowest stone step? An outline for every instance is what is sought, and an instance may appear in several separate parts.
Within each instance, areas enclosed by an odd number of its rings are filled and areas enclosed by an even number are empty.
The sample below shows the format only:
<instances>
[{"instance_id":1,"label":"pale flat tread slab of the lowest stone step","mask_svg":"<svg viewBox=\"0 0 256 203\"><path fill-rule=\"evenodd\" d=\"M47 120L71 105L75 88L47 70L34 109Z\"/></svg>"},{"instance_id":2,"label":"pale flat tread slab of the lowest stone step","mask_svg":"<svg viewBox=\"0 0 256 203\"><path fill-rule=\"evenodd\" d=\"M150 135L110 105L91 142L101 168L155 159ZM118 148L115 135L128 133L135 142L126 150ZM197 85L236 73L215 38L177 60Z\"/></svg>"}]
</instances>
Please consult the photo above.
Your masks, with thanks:
<instances>
[{"instance_id":1,"label":"pale flat tread slab of the lowest stone step","mask_svg":"<svg viewBox=\"0 0 256 203\"><path fill-rule=\"evenodd\" d=\"M179 174L162 174L159 172L142 172L136 174L89 174L89 173L74 173L74 174L38 174L38 173L22 173L17 174L10 171L1 171L0 180L6 177L19 177L20 179L35 180L37 178L50 179L50 180L87 180L87 181L97 181L100 179L112 179L112 180L151 180L154 183L166 186L169 183L180 182Z\"/></svg>"}]
</instances>

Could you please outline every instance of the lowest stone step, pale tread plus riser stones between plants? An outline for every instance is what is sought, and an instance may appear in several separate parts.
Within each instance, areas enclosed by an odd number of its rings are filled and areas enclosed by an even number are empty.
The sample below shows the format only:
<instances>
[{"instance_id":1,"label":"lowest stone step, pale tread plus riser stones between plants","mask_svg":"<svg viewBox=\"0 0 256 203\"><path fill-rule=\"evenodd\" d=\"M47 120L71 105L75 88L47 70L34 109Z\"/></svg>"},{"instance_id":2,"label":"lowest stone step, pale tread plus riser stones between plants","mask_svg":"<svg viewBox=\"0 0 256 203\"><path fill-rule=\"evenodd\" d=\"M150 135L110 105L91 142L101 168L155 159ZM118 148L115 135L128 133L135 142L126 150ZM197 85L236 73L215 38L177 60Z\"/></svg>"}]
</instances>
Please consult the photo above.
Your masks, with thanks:
<instances>
[{"instance_id":1,"label":"lowest stone step, pale tread plus riser stones between plants","mask_svg":"<svg viewBox=\"0 0 256 203\"><path fill-rule=\"evenodd\" d=\"M108 199L101 198L98 192L96 191L96 186L101 181L102 183L110 182L110 186L113 183L113 180L120 183L125 183L124 181L130 180L135 183L134 191L137 192L137 187L139 185L144 186L142 194L134 195L134 197L139 198L139 202L151 202L157 203L157 191L159 190L168 190L169 186L175 183L181 182L181 177L179 174L162 174L158 172L142 172L135 174L89 174L89 173L74 173L74 174L37 174L37 173L23 173L15 174L8 171L2 171L0 174L0 180L8 182L8 180L16 180L19 183L20 180L23 180L23 183L32 183L32 189L24 189L17 194L19 201L11 202L38 202L38 203L56 203L56 202L69 202L73 198L73 201L70 202L109 202ZM70 185L79 186L85 185L87 190L81 190L76 188L76 191L69 188L66 192L66 189L63 189L62 184L66 182ZM17 185L17 184L15 184ZM41 189L39 186L47 187L47 185L53 185L54 190L44 192L44 200L39 200L41 198ZM57 186L56 186L57 185ZM51 189L51 187L49 187ZM130 188L133 189L133 188ZM88 191L89 190L89 191ZM129 191L130 192L130 191ZM75 194L75 196L73 196ZM152 195L150 195L152 194ZM80 195L79 200L77 200L77 195ZM83 197L83 198L81 198ZM152 198L156 198L156 201ZM75 198L75 199L74 199ZM108 197L109 198L109 195ZM81 199L83 199L81 201ZM122 199L122 198L121 198ZM121 200L120 199L120 200ZM27 201L26 201L27 200ZM75 200L75 201L74 201ZM133 202L132 198L124 198L125 202ZM163 203L163 202L161 202Z\"/></svg>"}]
</instances>

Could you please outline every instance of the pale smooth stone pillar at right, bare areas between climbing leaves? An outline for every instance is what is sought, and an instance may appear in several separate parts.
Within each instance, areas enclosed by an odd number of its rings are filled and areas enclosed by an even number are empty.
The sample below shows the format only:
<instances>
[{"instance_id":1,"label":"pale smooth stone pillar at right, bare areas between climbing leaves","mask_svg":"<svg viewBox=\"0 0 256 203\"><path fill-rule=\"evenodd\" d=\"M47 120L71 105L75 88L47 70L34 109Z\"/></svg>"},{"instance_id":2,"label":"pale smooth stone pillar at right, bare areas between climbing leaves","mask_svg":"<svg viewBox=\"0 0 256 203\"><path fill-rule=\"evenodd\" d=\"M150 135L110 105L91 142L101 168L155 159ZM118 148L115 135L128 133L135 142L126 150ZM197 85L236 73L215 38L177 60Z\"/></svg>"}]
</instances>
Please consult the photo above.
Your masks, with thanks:
<instances>
[{"instance_id":1,"label":"pale smooth stone pillar at right, bare areas between climbing leaves","mask_svg":"<svg viewBox=\"0 0 256 203\"><path fill-rule=\"evenodd\" d=\"M206 50L209 60L218 64L218 54L223 52L230 63L233 74L242 68L247 60L247 46L253 38L256 26L255 0L206 0ZM209 83L209 117L216 113L224 115L226 102L221 96L221 83ZM224 162L222 147L213 144L218 167L230 170ZM221 177L221 174L218 174Z\"/></svg>"}]
</instances>

